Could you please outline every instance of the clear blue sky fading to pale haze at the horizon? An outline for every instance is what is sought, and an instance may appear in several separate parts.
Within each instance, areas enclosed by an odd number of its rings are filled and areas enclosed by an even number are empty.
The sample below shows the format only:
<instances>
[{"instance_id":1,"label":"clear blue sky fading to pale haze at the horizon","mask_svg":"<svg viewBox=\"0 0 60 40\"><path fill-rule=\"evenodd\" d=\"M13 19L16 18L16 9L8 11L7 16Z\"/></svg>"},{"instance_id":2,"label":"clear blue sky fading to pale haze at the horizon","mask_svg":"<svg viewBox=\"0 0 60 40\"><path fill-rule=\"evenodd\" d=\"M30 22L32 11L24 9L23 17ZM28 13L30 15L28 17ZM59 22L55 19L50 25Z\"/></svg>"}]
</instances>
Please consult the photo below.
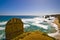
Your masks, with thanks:
<instances>
[{"instance_id":1,"label":"clear blue sky fading to pale haze at the horizon","mask_svg":"<svg viewBox=\"0 0 60 40\"><path fill-rule=\"evenodd\" d=\"M0 0L0 15L60 13L60 0Z\"/></svg>"}]
</instances>

